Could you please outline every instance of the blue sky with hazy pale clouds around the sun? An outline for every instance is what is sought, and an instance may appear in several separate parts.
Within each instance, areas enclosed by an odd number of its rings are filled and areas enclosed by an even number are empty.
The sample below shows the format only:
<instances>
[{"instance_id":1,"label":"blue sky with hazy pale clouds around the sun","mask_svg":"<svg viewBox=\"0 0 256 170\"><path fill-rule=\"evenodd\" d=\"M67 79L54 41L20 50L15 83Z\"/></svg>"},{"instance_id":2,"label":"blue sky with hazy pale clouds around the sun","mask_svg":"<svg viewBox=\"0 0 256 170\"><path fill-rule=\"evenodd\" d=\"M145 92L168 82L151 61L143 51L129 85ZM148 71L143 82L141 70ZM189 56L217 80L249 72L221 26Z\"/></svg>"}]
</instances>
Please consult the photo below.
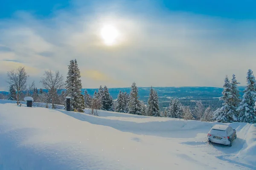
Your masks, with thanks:
<instances>
[{"instance_id":1,"label":"blue sky with hazy pale clouds around the sun","mask_svg":"<svg viewBox=\"0 0 256 170\"><path fill-rule=\"evenodd\" d=\"M66 77L76 58L84 88L245 85L256 63L256 2L208 0L2 0L0 79L25 66L38 87L45 69ZM113 26L114 45L101 30ZM7 90L0 82L0 90Z\"/></svg>"}]
</instances>

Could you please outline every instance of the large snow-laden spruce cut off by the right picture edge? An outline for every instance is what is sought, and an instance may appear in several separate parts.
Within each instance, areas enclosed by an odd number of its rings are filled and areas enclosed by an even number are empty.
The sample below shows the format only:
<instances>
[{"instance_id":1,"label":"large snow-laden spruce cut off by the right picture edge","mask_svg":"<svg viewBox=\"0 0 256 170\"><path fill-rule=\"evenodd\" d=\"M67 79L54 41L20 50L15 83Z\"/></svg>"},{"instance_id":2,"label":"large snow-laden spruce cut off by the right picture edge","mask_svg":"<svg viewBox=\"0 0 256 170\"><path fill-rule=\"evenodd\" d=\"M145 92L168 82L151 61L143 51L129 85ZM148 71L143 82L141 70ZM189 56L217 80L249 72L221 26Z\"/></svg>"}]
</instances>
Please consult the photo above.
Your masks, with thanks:
<instances>
[{"instance_id":1,"label":"large snow-laden spruce cut off by the right picture edge","mask_svg":"<svg viewBox=\"0 0 256 170\"><path fill-rule=\"evenodd\" d=\"M251 69L247 72L247 87L244 90L243 99L239 108L239 121L247 123L256 123L256 112L254 104L256 101L256 81Z\"/></svg>"}]
</instances>

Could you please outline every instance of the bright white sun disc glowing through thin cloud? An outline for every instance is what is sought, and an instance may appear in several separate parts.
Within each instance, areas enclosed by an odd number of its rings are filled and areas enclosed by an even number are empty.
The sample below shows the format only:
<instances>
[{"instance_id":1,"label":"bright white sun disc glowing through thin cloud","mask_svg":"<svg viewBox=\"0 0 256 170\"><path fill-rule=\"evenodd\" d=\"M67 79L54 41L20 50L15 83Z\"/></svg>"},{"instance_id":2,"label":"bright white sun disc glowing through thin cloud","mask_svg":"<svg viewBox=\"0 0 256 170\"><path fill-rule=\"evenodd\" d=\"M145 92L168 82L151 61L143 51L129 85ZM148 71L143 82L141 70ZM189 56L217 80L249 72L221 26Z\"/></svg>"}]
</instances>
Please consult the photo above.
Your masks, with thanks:
<instances>
[{"instance_id":1,"label":"bright white sun disc glowing through thin cloud","mask_svg":"<svg viewBox=\"0 0 256 170\"><path fill-rule=\"evenodd\" d=\"M101 29L101 36L106 45L113 45L116 43L116 38L119 32L114 26L105 25Z\"/></svg>"}]
</instances>

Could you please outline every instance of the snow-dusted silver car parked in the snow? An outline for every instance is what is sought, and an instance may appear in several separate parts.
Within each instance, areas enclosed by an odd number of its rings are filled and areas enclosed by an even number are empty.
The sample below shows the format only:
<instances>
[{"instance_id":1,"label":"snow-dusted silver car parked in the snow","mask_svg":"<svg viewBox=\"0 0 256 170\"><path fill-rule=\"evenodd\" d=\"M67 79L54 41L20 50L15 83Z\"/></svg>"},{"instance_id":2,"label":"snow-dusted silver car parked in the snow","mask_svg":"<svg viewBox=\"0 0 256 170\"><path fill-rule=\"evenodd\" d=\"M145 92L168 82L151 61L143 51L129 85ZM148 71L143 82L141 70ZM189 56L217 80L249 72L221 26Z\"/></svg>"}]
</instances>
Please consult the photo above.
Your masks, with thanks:
<instances>
[{"instance_id":1,"label":"snow-dusted silver car parked in the snow","mask_svg":"<svg viewBox=\"0 0 256 170\"><path fill-rule=\"evenodd\" d=\"M207 138L209 143L232 146L233 140L236 139L236 130L227 125L214 125L208 132Z\"/></svg>"}]
</instances>

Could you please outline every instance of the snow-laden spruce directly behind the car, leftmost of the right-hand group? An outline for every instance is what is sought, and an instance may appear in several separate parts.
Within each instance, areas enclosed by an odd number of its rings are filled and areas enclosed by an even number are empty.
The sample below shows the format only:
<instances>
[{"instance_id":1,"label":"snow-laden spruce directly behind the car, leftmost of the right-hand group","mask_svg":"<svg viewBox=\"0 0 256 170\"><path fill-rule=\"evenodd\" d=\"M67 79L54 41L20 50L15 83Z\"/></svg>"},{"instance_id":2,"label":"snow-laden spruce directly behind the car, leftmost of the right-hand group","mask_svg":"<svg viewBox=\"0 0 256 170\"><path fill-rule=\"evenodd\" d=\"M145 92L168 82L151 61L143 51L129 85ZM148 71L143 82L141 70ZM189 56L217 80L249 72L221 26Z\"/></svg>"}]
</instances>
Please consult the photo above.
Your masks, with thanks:
<instances>
[{"instance_id":1,"label":"snow-laden spruce directly behind the car, leftmost of the right-hand group","mask_svg":"<svg viewBox=\"0 0 256 170\"><path fill-rule=\"evenodd\" d=\"M213 119L215 119L217 122L233 122L233 114L235 114L234 111L231 110L233 96L231 83L227 76L224 80L223 87L223 96L220 97L220 100L223 100L224 103L220 109L217 109L217 111L214 112Z\"/></svg>"}]
</instances>

